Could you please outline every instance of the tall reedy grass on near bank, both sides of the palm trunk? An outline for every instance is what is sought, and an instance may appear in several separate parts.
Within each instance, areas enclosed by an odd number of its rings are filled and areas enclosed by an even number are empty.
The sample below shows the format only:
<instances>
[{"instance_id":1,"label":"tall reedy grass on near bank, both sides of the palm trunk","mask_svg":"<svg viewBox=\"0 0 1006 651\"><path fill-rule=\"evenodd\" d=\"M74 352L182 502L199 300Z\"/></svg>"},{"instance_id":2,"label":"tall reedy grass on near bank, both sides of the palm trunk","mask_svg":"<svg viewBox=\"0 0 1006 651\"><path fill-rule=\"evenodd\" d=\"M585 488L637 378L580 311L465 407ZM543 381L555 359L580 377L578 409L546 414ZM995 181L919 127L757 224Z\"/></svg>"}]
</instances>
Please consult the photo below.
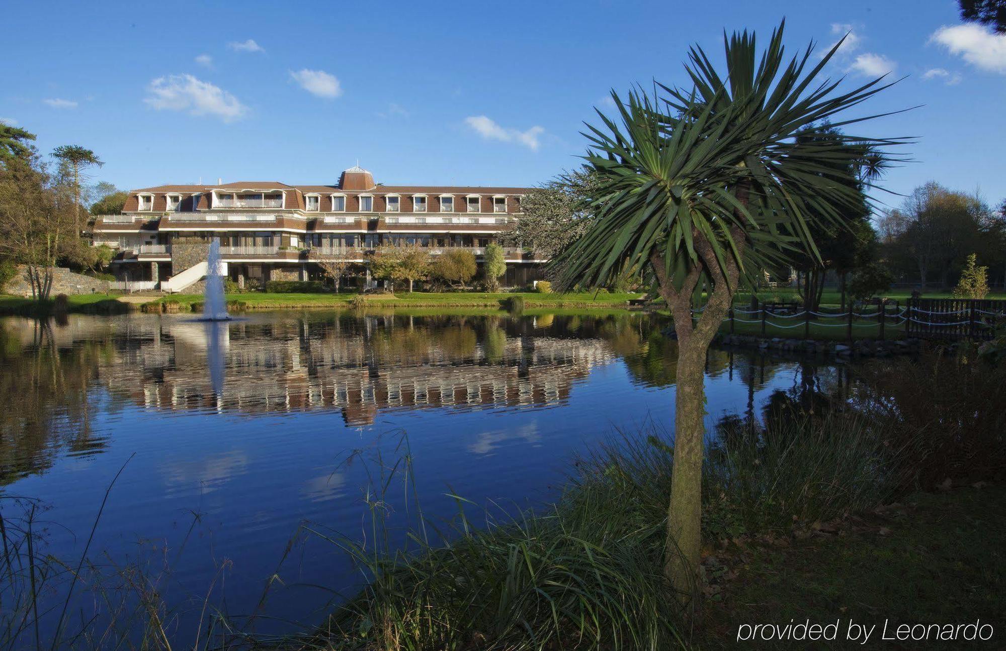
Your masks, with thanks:
<instances>
[{"instance_id":1,"label":"tall reedy grass on near bank, both sides of the palm trunk","mask_svg":"<svg viewBox=\"0 0 1006 651\"><path fill-rule=\"evenodd\" d=\"M350 554L366 582L316 642L415 651L686 646L690 618L676 610L661 572L675 553L664 549L667 441L652 425L613 438L575 460L545 510L487 515L473 526L459 508L436 534L421 518L408 550L312 528ZM845 415L721 428L704 468L706 537L789 534L871 509L902 485L902 458L869 423ZM370 502L380 520L385 497ZM372 535L381 540L381 526Z\"/></svg>"}]
</instances>

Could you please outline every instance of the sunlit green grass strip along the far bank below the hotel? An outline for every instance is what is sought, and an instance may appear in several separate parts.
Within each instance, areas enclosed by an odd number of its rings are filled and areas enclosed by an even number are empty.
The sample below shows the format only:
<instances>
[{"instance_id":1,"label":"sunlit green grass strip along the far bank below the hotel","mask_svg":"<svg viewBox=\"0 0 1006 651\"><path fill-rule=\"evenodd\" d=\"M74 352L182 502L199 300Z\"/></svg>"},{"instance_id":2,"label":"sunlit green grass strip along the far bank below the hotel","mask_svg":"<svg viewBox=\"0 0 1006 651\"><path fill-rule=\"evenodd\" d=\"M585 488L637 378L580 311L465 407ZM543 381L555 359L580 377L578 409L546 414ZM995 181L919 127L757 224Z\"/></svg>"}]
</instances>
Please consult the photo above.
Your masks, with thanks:
<instances>
[{"instance_id":1,"label":"sunlit green grass strip along the far bank below the hotel","mask_svg":"<svg viewBox=\"0 0 1006 651\"><path fill-rule=\"evenodd\" d=\"M227 301L242 303L246 309L338 308L349 306L358 293L269 293L240 292L226 295ZM402 292L363 294L368 307L502 307L504 301L520 297L528 307L607 307L625 306L640 294L628 293L536 293L536 292ZM156 298L154 303L172 303L183 311L201 303L201 294L172 294Z\"/></svg>"}]
</instances>

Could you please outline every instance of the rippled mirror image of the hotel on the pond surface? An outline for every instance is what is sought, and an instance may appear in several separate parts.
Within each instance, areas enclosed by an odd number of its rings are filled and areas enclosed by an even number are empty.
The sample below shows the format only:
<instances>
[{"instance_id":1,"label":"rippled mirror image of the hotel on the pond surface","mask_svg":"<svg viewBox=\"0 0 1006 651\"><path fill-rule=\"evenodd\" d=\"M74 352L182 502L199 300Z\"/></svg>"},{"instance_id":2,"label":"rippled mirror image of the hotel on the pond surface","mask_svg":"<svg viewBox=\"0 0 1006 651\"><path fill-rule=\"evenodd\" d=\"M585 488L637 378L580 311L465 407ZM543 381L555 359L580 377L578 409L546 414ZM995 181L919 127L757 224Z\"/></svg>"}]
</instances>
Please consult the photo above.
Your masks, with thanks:
<instances>
[{"instance_id":1,"label":"rippled mirror image of the hotel on the pond surface","mask_svg":"<svg viewBox=\"0 0 1006 651\"><path fill-rule=\"evenodd\" d=\"M531 338L485 325L253 320L231 323L213 352L202 323L150 319L130 328L130 339L143 345L120 349L100 377L146 407L247 414L328 408L364 425L385 409L559 403L578 378L616 357L601 339ZM209 381L212 355L222 356L226 369L220 392Z\"/></svg>"}]
</instances>

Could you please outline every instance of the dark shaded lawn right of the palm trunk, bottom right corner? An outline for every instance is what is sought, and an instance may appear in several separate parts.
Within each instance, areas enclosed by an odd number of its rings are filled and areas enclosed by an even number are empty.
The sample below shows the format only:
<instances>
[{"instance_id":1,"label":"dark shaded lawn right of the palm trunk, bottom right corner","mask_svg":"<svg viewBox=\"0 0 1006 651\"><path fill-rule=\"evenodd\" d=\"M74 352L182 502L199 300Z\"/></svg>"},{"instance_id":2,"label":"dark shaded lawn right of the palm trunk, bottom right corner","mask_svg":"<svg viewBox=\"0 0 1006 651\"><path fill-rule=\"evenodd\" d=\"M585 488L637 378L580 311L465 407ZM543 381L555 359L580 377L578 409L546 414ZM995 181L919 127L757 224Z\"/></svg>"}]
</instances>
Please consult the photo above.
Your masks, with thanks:
<instances>
[{"instance_id":1,"label":"dark shaded lawn right of the palm trunk, bottom right corner","mask_svg":"<svg viewBox=\"0 0 1006 651\"><path fill-rule=\"evenodd\" d=\"M707 602L699 648L733 649L741 624L831 624L839 639L822 647L790 641L757 648L853 648L843 640L850 620L877 625L967 624L981 620L995 634L985 643L901 643L896 648L1004 648L1006 640L1006 488L958 488L920 493L901 505L851 520L838 531L783 546L753 546L717 561L736 573ZM715 571L719 572L719 571ZM891 624L893 626L891 626ZM745 631L746 633L746 631ZM941 646L942 645L942 646Z\"/></svg>"}]
</instances>

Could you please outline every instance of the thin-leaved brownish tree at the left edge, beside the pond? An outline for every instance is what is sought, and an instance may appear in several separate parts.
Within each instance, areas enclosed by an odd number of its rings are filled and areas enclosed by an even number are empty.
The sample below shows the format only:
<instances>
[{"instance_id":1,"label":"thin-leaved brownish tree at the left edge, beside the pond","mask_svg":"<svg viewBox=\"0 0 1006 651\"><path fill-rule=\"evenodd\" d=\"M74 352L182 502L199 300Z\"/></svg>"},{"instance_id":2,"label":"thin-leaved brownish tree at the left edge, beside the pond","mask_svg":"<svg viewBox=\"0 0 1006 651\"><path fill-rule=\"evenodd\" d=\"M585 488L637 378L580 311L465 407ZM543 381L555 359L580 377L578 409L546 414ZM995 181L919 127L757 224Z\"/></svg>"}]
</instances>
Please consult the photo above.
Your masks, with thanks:
<instances>
[{"instance_id":1,"label":"thin-leaved brownish tree at the left edge, beside the pond","mask_svg":"<svg viewBox=\"0 0 1006 651\"><path fill-rule=\"evenodd\" d=\"M25 265L36 300L49 297L56 261L82 244L73 209L37 155L0 168L0 257Z\"/></svg>"}]
</instances>

